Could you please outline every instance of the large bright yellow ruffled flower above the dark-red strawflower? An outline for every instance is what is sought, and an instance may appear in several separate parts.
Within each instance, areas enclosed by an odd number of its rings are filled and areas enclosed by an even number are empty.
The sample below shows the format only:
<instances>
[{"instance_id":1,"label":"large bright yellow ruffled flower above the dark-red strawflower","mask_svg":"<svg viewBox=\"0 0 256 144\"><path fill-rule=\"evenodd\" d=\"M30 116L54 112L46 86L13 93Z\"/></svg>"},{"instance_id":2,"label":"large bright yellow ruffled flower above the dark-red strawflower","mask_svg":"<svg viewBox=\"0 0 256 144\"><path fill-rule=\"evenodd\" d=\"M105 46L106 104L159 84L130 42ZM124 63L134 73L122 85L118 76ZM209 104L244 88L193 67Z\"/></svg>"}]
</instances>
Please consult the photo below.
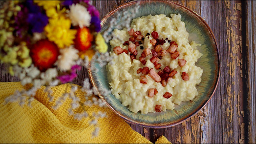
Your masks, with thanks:
<instances>
[{"instance_id":1,"label":"large bright yellow ruffled flower above the dark-red strawflower","mask_svg":"<svg viewBox=\"0 0 256 144\"><path fill-rule=\"evenodd\" d=\"M74 43L76 30L70 29L71 21L64 17L49 19L45 26L46 37L55 42L59 48L70 46Z\"/></svg>"}]
</instances>

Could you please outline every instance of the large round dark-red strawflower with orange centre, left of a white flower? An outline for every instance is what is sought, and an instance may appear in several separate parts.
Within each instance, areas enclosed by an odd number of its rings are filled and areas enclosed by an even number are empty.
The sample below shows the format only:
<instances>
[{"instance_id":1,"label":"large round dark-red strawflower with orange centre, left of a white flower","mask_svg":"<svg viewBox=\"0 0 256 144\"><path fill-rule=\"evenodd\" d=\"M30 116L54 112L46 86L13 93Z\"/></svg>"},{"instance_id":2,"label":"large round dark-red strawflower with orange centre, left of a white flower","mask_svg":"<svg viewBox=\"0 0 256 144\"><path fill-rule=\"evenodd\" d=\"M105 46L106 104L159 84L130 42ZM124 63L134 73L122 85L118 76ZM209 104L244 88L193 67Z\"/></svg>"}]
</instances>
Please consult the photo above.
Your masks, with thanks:
<instances>
[{"instance_id":1,"label":"large round dark-red strawflower with orange centre, left of a white flower","mask_svg":"<svg viewBox=\"0 0 256 144\"><path fill-rule=\"evenodd\" d=\"M59 49L54 42L40 40L32 46L30 56L35 66L40 70L46 70L57 61Z\"/></svg>"}]
</instances>

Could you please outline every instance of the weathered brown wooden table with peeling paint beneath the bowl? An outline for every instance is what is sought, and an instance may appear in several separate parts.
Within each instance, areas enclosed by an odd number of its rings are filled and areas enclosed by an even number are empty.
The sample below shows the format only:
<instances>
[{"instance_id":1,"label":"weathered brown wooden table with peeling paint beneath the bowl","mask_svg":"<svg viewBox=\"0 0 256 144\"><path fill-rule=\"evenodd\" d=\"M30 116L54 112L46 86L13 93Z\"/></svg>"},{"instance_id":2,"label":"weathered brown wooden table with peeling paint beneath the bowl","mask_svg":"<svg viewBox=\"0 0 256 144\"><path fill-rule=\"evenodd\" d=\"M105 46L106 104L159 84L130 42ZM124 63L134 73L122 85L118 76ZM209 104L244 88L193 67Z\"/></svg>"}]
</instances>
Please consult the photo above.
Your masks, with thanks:
<instances>
[{"instance_id":1,"label":"weathered brown wooden table with peeling paint beneath the bowl","mask_svg":"<svg viewBox=\"0 0 256 144\"><path fill-rule=\"evenodd\" d=\"M93 1L103 18L129 0ZM151 142L256 143L256 1L183 1L209 24L220 55L220 80L211 101L188 121L164 129L129 124ZM0 65L1 70L6 68ZM19 81L0 73L0 82ZM86 69L73 83L82 85Z\"/></svg>"}]
</instances>

